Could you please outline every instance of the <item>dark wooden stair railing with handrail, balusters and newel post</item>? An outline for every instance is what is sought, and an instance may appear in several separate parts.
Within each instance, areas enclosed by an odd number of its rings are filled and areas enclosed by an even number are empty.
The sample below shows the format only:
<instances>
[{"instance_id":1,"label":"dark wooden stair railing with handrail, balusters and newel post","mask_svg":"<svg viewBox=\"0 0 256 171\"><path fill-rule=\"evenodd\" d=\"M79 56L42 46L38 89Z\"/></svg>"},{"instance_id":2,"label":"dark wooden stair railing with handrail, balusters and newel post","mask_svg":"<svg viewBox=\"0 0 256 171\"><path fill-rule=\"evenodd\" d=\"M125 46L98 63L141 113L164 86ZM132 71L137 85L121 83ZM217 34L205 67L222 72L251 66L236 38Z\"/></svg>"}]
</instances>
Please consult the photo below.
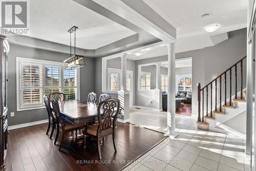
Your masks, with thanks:
<instances>
[{"instance_id":1,"label":"dark wooden stair railing with handrail, balusters and newel post","mask_svg":"<svg viewBox=\"0 0 256 171\"><path fill-rule=\"evenodd\" d=\"M238 81L238 78L237 78L237 72L238 72L238 67L240 67L240 75L241 75L241 87L240 87L240 98L243 99L243 60L246 58L243 57L242 59L240 59L238 62L234 63L234 65L232 65L231 67L229 67L227 70L225 70L223 73L221 73L219 76L217 76L214 80L210 81L208 84L206 84L206 86L204 86L203 88L201 88L201 83L198 83L198 121L202 121L204 122L204 89L206 88L206 116L208 116L208 87L210 88L210 117L214 117L214 112L218 112L218 108L217 108L217 86L219 87L219 100L220 100L220 105L219 105L219 112L222 112L222 89L221 89L221 86L222 86L222 75L224 75L224 105L227 105L227 98L229 98L229 105L231 106L232 105L232 99L231 99L231 96L232 96L232 73L235 77L235 85L234 85L234 92L235 92L235 96L234 98L238 98L237 97L237 93L238 93L238 85L237 85L237 81ZM239 64L239 65L238 65ZM234 67L234 72L232 72L232 68ZM227 73L228 73L228 77L229 77L229 92L227 93ZM218 79L220 79L219 81L219 84L218 84ZM213 99L212 99L212 84L215 85L215 103L214 103L214 106L215 106L215 109L214 109L214 112L212 111L213 109L213 106L212 106L212 102L213 102ZM228 97L227 97L227 94L228 94ZM202 96L202 98L201 98ZM201 102L202 101L202 102ZM202 104L202 110L201 110L201 104ZM202 118L201 118L201 112L202 112Z\"/></svg>"}]
</instances>

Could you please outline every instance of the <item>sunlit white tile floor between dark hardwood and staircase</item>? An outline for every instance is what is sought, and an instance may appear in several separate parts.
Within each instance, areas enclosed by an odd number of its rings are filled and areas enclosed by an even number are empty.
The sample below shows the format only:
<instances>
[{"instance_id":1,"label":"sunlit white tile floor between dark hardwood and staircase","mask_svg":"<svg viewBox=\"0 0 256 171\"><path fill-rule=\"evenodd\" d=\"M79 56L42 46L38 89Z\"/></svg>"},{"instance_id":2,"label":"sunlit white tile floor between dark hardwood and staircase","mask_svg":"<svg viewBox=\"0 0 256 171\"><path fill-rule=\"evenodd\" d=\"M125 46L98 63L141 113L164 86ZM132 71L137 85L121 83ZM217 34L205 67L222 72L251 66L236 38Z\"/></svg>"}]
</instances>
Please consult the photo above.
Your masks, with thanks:
<instances>
[{"instance_id":1,"label":"sunlit white tile floor between dark hardwood and staircase","mask_svg":"<svg viewBox=\"0 0 256 171\"><path fill-rule=\"evenodd\" d=\"M136 110L131 123L165 132L166 113ZM176 115L177 137L166 138L123 170L248 170L243 138L197 129L196 119ZM246 156L246 157L245 157Z\"/></svg>"}]
</instances>

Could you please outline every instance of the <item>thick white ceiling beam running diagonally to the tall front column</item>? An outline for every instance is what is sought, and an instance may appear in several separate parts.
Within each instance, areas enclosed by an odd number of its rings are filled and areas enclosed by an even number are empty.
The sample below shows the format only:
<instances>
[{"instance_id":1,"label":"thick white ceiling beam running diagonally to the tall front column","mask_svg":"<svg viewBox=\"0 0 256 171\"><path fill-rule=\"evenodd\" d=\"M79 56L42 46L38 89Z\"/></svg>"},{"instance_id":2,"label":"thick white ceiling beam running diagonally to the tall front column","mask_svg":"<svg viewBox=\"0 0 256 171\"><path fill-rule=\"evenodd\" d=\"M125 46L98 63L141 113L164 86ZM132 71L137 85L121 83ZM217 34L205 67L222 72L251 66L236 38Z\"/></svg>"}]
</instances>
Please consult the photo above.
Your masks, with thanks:
<instances>
[{"instance_id":1,"label":"thick white ceiling beam running diagonally to the tall front column","mask_svg":"<svg viewBox=\"0 0 256 171\"><path fill-rule=\"evenodd\" d=\"M163 41L176 40L176 29L142 0L92 1Z\"/></svg>"}]
</instances>

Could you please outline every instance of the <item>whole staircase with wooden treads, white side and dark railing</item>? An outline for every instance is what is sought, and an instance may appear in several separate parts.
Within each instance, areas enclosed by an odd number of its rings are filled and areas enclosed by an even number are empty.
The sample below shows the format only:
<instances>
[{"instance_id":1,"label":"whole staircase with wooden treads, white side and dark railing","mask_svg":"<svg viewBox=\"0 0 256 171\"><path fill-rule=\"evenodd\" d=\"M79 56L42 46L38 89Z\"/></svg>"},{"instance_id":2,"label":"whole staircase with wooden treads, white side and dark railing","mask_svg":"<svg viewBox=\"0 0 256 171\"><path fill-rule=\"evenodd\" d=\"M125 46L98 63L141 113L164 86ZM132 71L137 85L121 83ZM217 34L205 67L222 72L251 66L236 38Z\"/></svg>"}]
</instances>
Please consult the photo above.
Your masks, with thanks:
<instances>
[{"instance_id":1,"label":"whole staircase with wooden treads, white side and dark railing","mask_svg":"<svg viewBox=\"0 0 256 171\"><path fill-rule=\"evenodd\" d=\"M246 88L243 85L243 57L201 88L198 83L198 125L201 129L236 131L246 117ZM239 90L238 90L239 89ZM237 131L243 133L244 126Z\"/></svg>"}]
</instances>

